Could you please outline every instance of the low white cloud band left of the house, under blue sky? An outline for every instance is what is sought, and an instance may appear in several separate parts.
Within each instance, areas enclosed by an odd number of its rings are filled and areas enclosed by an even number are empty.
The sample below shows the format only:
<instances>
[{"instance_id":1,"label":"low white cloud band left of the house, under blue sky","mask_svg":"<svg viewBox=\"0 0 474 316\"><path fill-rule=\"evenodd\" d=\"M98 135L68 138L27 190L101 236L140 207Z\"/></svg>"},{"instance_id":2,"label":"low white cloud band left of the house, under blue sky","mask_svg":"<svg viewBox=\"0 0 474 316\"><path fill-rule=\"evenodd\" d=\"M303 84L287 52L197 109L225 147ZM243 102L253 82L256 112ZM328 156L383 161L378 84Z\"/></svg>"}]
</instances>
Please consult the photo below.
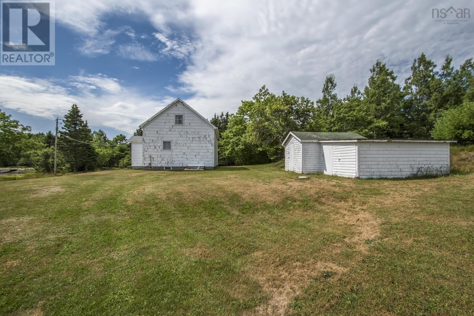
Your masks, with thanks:
<instances>
[{"instance_id":1,"label":"low white cloud band left of the house, under blue sky","mask_svg":"<svg viewBox=\"0 0 474 316\"><path fill-rule=\"evenodd\" d=\"M2 74L0 85L5 90L0 94L0 108L51 118L63 116L77 103L91 128L107 126L130 135L139 124L175 99L144 97L102 74L73 76L69 84L80 89L68 89L52 80Z\"/></svg>"}]
</instances>

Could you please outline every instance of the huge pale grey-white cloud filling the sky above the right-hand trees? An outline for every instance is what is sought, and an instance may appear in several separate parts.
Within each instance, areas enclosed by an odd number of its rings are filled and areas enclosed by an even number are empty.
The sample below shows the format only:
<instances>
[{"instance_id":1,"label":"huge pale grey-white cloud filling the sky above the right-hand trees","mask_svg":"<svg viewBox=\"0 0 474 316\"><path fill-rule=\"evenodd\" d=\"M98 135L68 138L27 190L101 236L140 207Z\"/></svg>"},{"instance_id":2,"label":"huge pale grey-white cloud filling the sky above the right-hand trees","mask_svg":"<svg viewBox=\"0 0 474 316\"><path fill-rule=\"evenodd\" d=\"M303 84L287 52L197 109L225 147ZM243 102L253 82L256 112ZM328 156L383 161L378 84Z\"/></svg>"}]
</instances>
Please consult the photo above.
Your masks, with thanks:
<instances>
[{"instance_id":1,"label":"huge pale grey-white cloud filling the sky above the right-hand trees","mask_svg":"<svg viewBox=\"0 0 474 316\"><path fill-rule=\"evenodd\" d=\"M474 20L443 25L431 18L432 8L450 5L376 0L64 0L56 3L56 12L59 23L91 36L101 34L104 17L146 16L164 45L160 53L186 60L179 73L181 87L168 89L190 93L188 103L210 117L216 110L234 111L241 99L250 99L263 84L276 93L285 90L317 99L331 72L338 93L344 95L354 83L363 88L378 58L395 70L400 83L421 52L438 65L446 54L462 63L474 51L469 40ZM461 0L456 6L469 8L472 2ZM137 60L156 59L143 46L122 46L120 52Z\"/></svg>"}]
</instances>

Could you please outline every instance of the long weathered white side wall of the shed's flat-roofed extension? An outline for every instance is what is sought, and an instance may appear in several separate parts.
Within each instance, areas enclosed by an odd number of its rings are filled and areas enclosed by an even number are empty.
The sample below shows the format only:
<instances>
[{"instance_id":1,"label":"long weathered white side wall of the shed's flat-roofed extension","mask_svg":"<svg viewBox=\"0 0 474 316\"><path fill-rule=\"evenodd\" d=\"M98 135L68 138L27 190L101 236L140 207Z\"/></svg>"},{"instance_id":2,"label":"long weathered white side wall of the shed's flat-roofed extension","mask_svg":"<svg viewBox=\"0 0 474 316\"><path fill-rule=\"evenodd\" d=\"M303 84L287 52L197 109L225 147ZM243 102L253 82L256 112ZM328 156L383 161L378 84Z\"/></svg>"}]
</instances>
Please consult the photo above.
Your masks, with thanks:
<instances>
[{"instance_id":1,"label":"long weathered white side wall of the shed's flat-roofed extension","mask_svg":"<svg viewBox=\"0 0 474 316\"><path fill-rule=\"evenodd\" d=\"M361 142L358 146L362 179L449 173L449 143Z\"/></svg>"}]
</instances>

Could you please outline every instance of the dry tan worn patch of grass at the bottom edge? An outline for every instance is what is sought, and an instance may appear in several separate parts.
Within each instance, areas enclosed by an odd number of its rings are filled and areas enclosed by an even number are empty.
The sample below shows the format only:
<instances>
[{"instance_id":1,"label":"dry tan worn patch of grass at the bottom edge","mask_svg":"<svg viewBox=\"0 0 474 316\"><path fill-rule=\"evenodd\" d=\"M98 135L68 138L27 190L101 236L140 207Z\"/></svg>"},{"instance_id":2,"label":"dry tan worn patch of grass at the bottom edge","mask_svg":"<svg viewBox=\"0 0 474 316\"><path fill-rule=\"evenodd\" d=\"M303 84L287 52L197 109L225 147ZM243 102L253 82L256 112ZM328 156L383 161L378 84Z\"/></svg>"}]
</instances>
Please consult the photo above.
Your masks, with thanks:
<instances>
[{"instance_id":1,"label":"dry tan worn patch of grass at the bottom edge","mask_svg":"<svg viewBox=\"0 0 474 316\"><path fill-rule=\"evenodd\" d=\"M255 253L260 256L261 253ZM252 278L262 285L264 293L270 298L268 302L258 306L245 315L284 315L292 298L308 286L312 277L323 271L330 271L331 278L337 280L347 271L334 262L310 260L307 262L274 262L261 261L251 271Z\"/></svg>"}]
</instances>

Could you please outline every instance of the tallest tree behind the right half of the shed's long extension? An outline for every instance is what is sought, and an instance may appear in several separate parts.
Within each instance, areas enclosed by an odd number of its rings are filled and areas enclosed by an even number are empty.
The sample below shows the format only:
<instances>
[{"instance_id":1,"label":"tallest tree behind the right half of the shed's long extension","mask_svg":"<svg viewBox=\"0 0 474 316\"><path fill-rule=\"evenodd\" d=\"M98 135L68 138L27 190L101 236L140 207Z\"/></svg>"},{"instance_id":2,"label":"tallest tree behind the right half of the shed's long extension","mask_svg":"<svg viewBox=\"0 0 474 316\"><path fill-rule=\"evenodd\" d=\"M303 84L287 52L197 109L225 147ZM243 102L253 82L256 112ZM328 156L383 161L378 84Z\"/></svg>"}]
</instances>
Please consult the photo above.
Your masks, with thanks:
<instances>
[{"instance_id":1,"label":"tallest tree behind the right half of the shed's long extension","mask_svg":"<svg viewBox=\"0 0 474 316\"><path fill-rule=\"evenodd\" d=\"M444 65L443 76L449 78L451 75L450 60ZM405 79L403 92L406 98L403 100L403 113L405 114L405 135L414 138L429 138L429 132L433 126L430 122L430 112L435 110L429 101L433 97L437 88L442 89L441 79L438 78L438 72L434 69L436 64L421 55L413 61L411 66L411 75ZM433 122L434 123L434 122Z\"/></svg>"}]
</instances>

